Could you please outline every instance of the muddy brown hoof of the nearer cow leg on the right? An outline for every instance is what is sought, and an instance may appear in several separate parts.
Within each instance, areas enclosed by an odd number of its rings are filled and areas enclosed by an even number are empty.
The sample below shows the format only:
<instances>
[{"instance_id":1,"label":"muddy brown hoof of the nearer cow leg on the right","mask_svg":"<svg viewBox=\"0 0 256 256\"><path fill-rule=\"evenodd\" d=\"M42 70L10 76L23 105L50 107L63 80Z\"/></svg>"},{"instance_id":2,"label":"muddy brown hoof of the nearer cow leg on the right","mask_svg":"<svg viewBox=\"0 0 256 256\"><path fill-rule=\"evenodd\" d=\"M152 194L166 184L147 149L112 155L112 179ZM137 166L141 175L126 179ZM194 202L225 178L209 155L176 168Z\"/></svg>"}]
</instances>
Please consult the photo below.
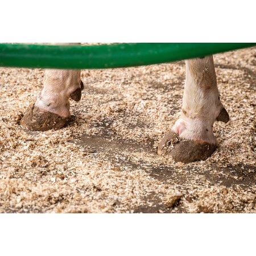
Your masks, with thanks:
<instances>
[{"instance_id":1,"label":"muddy brown hoof of the nearer cow leg on the right","mask_svg":"<svg viewBox=\"0 0 256 256\"><path fill-rule=\"evenodd\" d=\"M171 157L175 162L191 163L206 160L216 148L216 144L185 140L170 131L159 142L158 155Z\"/></svg>"}]
</instances>

